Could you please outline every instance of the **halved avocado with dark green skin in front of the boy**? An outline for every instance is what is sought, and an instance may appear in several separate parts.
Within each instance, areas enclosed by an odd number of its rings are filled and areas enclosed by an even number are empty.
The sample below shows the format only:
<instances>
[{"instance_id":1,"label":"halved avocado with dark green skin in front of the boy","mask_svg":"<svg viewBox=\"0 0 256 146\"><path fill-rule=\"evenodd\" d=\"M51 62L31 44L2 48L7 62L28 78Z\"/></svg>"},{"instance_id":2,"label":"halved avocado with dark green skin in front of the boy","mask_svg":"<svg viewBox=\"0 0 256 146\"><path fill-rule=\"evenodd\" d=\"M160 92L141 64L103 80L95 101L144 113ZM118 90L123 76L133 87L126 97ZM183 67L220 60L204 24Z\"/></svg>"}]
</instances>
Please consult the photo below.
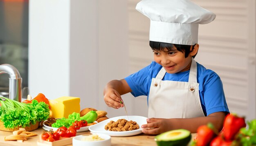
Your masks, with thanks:
<instances>
[{"instance_id":1,"label":"halved avocado with dark green skin in front of the boy","mask_svg":"<svg viewBox=\"0 0 256 146\"><path fill-rule=\"evenodd\" d=\"M191 133L185 129L167 131L155 137L157 146L187 146L190 140Z\"/></svg>"}]
</instances>

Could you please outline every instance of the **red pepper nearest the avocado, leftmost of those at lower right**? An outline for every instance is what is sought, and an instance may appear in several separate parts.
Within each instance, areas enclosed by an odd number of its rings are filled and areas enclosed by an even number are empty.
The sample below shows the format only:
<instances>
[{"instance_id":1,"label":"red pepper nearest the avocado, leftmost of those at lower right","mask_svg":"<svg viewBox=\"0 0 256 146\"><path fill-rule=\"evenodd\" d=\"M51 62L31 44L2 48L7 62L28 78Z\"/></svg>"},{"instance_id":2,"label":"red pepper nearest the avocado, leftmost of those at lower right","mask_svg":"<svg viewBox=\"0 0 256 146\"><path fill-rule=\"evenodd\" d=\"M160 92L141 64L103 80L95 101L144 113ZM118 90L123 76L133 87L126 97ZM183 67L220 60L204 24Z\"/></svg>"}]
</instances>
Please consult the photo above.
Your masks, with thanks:
<instances>
[{"instance_id":1,"label":"red pepper nearest the avocado, leftmost of those at lower right","mask_svg":"<svg viewBox=\"0 0 256 146\"><path fill-rule=\"evenodd\" d=\"M217 131L213 124L209 123L199 126L197 129L196 145L207 146L216 135Z\"/></svg>"}]
</instances>

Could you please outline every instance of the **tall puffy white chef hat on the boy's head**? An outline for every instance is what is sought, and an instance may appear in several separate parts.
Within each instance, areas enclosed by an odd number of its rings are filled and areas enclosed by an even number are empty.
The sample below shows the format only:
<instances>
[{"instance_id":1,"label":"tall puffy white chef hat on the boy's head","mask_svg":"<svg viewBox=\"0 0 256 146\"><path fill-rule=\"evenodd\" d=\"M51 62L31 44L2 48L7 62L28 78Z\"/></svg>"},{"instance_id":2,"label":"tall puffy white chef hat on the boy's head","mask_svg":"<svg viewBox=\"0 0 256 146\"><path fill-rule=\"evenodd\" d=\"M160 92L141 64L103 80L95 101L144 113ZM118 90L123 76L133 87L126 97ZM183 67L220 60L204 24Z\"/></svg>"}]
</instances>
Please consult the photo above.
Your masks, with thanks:
<instances>
[{"instance_id":1,"label":"tall puffy white chef hat on the boy's head","mask_svg":"<svg viewBox=\"0 0 256 146\"><path fill-rule=\"evenodd\" d=\"M150 19L149 40L172 44L196 44L198 24L216 17L190 0L141 0L136 9Z\"/></svg>"}]
</instances>

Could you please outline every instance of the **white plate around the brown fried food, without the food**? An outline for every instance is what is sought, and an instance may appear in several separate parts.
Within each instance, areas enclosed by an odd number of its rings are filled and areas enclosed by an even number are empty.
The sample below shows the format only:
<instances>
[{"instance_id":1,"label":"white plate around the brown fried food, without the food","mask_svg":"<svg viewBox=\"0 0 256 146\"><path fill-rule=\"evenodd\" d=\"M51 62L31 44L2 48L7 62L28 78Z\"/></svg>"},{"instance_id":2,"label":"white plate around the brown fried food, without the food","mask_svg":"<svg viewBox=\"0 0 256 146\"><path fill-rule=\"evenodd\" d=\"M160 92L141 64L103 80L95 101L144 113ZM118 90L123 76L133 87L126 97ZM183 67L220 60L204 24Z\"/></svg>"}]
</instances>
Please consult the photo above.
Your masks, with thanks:
<instances>
[{"instance_id":1,"label":"white plate around the brown fried food, without the food","mask_svg":"<svg viewBox=\"0 0 256 146\"><path fill-rule=\"evenodd\" d=\"M110 119L106 119L102 122L99 122L98 124L92 125L89 127L89 130L92 133L104 133L110 136L117 136L117 137L123 137L123 136L132 136L142 133L141 125L147 124L147 117L137 116L137 115L129 115L129 119L132 121L137 122L139 125L139 129L132 130L132 131L108 131L105 130L105 125L108 124L110 121L117 121L118 119L126 119L128 120L127 116L119 116L119 117L112 117Z\"/></svg>"}]
</instances>

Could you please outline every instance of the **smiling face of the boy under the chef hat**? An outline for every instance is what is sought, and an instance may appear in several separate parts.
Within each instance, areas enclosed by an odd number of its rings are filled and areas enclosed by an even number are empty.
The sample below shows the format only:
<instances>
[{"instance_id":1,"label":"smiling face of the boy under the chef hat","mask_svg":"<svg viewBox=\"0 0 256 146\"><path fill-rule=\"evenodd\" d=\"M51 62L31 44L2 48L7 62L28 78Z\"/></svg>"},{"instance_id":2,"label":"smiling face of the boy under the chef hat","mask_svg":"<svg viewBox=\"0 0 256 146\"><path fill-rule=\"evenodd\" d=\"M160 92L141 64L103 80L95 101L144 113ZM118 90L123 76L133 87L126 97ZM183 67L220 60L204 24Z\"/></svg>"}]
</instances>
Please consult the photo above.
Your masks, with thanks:
<instances>
[{"instance_id":1,"label":"smiling face of the boy under the chef hat","mask_svg":"<svg viewBox=\"0 0 256 146\"><path fill-rule=\"evenodd\" d=\"M178 73L188 71L190 69L192 58L190 54L187 58L185 58L185 54L177 49L173 51L164 49L164 51L153 52L155 62L162 65L167 73Z\"/></svg>"}]
</instances>

